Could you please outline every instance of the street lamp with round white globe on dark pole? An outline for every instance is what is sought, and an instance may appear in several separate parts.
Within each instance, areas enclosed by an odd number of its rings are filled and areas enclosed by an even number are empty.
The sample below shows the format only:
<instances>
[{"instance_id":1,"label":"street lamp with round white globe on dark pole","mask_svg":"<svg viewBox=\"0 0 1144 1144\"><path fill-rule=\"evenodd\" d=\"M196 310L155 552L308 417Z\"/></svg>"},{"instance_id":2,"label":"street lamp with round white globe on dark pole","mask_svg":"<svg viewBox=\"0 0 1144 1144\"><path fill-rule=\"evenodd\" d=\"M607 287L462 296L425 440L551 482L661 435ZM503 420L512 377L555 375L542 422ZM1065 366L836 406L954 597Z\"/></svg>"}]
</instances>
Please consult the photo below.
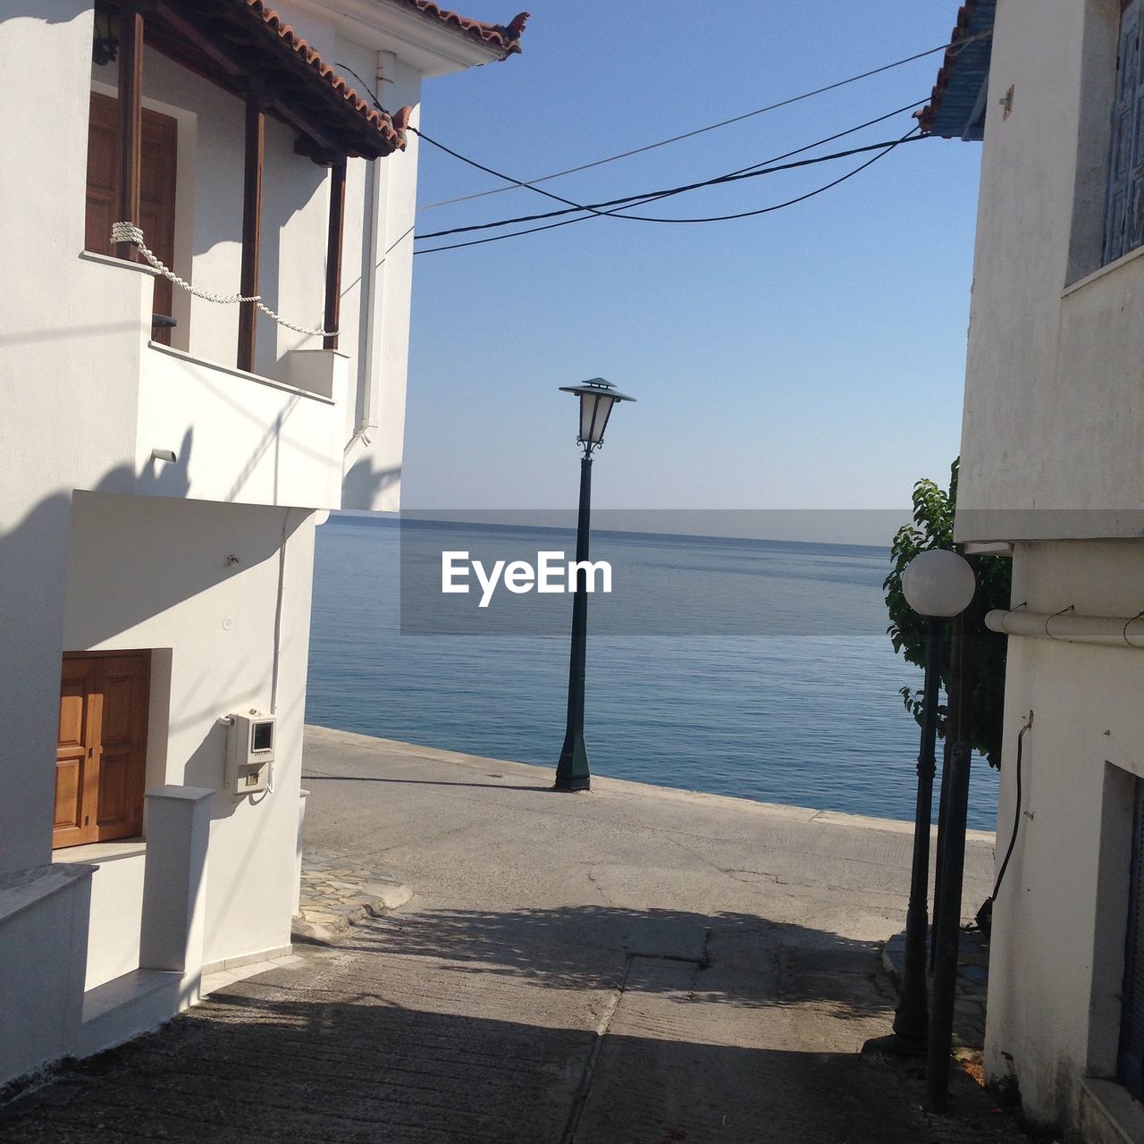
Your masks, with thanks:
<instances>
[{"instance_id":1,"label":"street lamp with round white globe on dark pole","mask_svg":"<svg viewBox=\"0 0 1144 1144\"><path fill-rule=\"evenodd\" d=\"M919 553L901 573L906 603L925 620L925 683L922 692L922 738L917 754L917 807L914 815L914 858L906 909L906 952L901 999L893 1034L879 1039L883 1048L923 1054L929 1033L925 995L925 930L929 924L929 836L934 812L937 746L937 696L942 682L942 635L945 621L959 615L974 598L977 579L964 557L944 548Z\"/></svg>"}]
</instances>

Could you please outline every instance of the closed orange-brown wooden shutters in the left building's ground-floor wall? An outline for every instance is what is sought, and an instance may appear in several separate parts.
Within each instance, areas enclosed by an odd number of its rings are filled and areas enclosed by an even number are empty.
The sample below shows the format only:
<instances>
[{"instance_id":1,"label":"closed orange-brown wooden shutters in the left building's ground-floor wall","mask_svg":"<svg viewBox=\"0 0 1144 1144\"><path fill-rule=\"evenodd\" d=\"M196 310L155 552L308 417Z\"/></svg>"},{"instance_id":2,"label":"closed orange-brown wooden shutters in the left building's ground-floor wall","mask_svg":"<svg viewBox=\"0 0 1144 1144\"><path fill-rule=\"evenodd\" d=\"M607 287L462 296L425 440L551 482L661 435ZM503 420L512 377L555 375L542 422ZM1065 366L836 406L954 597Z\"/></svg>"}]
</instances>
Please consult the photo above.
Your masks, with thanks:
<instances>
[{"instance_id":1,"label":"closed orange-brown wooden shutters in the left building's ground-floor wall","mask_svg":"<svg viewBox=\"0 0 1144 1144\"><path fill-rule=\"evenodd\" d=\"M150 660L146 651L64 656L54 849L143 829Z\"/></svg>"}]
</instances>

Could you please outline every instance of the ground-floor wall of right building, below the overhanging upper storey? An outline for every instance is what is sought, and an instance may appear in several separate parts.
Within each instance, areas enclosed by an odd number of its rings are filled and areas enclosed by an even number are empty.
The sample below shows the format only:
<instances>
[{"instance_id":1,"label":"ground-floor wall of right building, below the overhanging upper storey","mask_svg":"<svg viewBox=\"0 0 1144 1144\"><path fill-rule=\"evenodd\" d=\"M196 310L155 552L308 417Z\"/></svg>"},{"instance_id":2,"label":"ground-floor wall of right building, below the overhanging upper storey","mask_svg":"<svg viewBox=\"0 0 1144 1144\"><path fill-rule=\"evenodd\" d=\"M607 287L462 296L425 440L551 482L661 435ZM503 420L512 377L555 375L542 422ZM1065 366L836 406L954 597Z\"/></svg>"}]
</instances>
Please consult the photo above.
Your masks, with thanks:
<instances>
[{"instance_id":1,"label":"ground-floor wall of right building, below the overhanging upper storey","mask_svg":"<svg viewBox=\"0 0 1144 1144\"><path fill-rule=\"evenodd\" d=\"M1131 615L1144 546L1019 545L1014 599L1038 612ZM1073 1119L1083 1075L1115 1073L1131 844L1131 779L1144 776L1144 653L1010 637L998 857L1017 843L994 905L986 1066L1012 1075L1026 1114Z\"/></svg>"}]
</instances>

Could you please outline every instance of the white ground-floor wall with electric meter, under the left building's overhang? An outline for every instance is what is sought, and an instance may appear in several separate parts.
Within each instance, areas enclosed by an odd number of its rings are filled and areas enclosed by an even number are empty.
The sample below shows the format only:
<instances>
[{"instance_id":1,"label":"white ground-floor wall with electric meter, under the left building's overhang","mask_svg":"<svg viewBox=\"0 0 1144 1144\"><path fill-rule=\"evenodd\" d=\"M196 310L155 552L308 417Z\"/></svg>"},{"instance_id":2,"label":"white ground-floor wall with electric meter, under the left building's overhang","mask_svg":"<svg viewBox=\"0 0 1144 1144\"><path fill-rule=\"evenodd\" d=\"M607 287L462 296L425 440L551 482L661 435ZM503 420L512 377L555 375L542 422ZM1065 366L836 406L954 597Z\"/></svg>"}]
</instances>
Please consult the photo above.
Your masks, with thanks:
<instances>
[{"instance_id":1,"label":"white ground-floor wall with electric meter, under the left building's overhang","mask_svg":"<svg viewBox=\"0 0 1144 1144\"><path fill-rule=\"evenodd\" d=\"M220 791L212 805L207 962L289 942L312 561L312 516L299 509L74 498L65 649L169 649L152 677L152 713L165 708L168 734L160 757L151 739L149 788L221 788L220 718L270 710L277 677L273 792Z\"/></svg>"}]
</instances>

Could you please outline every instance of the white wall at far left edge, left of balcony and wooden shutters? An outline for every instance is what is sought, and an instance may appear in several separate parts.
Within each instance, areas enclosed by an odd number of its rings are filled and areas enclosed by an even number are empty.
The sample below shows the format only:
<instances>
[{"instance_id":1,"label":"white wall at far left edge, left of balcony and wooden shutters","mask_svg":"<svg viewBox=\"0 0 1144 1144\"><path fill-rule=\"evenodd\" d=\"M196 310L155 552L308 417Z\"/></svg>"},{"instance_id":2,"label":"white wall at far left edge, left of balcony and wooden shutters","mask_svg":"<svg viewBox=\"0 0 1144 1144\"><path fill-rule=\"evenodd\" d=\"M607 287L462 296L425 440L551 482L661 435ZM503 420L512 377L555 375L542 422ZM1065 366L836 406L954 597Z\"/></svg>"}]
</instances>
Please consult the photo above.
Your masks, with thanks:
<instances>
[{"instance_id":1,"label":"white wall at far left edge, left of balcony and wooden shutters","mask_svg":"<svg viewBox=\"0 0 1144 1144\"><path fill-rule=\"evenodd\" d=\"M71 490L132 486L151 289L138 270L79 256L90 11L11 0L3 15L6 169L35 177L6 178L0 212L13 262L0 281L0 872L49 858Z\"/></svg>"}]
</instances>

